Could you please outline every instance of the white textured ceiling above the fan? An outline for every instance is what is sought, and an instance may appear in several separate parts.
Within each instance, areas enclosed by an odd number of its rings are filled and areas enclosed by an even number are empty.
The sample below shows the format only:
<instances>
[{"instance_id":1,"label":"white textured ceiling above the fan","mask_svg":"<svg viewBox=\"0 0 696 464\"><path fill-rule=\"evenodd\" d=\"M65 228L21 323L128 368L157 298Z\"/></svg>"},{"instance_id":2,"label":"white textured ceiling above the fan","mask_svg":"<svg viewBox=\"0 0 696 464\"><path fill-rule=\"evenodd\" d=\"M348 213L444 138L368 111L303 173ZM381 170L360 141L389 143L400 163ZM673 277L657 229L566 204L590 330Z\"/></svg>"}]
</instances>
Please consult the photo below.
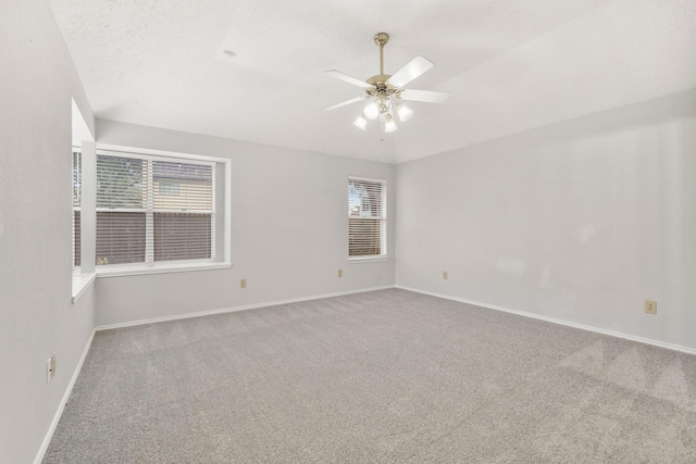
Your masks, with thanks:
<instances>
[{"instance_id":1,"label":"white textured ceiling above the fan","mask_svg":"<svg viewBox=\"0 0 696 464\"><path fill-rule=\"evenodd\" d=\"M694 0L50 0L97 117L401 162L696 87ZM383 134L323 74L435 67ZM227 52L225 52L227 51ZM232 52L232 53L229 53Z\"/></svg>"}]
</instances>

